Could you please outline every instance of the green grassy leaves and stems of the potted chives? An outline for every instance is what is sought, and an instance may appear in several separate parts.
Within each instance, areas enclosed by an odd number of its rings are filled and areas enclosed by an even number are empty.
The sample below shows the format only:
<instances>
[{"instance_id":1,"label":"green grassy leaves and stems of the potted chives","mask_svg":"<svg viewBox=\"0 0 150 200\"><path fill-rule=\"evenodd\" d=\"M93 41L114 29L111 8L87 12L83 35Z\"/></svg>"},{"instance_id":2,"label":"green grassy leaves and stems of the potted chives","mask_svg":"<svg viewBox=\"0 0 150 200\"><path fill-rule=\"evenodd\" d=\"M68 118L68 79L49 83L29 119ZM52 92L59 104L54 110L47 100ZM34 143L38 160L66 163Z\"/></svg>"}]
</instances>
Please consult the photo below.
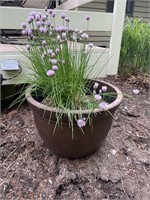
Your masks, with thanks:
<instances>
[{"instance_id":1,"label":"green grassy leaves and stems of the potted chives","mask_svg":"<svg viewBox=\"0 0 150 200\"><path fill-rule=\"evenodd\" d=\"M86 49L85 43L79 45L77 41L58 42L55 34L57 33L54 31L53 36L49 37L49 32L44 35L35 32L36 41L29 40L30 50L24 53L31 62L31 66L28 66L31 74L28 75L27 82L35 86L34 90L41 91L50 106L64 110L92 108L93 104L85 101L85 93L89 92L86 91L88 88L85 81L87 74L90 73L90 68L87 66L92 49ZM69 32L68 37L70 37ZM42 47L37 45L37 40L39 44L43 40L46 41L46 45ZM47 52L48 50L56 52L56 49L60 50L54 57L54 60L57 60L58 70L53 76L48 76L47 72L52 70L54 64L50 62L53 58Z\"/></svg>"}]
</instances>

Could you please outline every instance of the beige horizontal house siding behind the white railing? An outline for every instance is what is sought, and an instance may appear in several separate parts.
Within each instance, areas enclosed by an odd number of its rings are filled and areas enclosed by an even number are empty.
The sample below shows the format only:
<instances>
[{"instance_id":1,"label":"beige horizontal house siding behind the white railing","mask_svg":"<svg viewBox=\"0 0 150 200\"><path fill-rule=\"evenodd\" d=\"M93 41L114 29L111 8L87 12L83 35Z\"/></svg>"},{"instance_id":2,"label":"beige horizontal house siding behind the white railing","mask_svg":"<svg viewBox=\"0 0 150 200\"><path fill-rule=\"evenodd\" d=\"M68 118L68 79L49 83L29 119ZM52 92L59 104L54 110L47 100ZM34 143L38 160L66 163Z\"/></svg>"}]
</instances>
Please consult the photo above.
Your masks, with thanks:
<instances>
[{"instance_id":1,"label":"beige horizontal house siding behind the white railing","mask_svg":"<svg viewBox=\"0 0 150 200\"><path fill-rule=\"evenodd\" d=\"M107 0L95 0L78 8L79 11L106 12ZM150 22L150 0L135 0L134 17L143 17ZM89 32L89 40L97 46L109 47L109 32Z\"/></svg>"}]
</instances>

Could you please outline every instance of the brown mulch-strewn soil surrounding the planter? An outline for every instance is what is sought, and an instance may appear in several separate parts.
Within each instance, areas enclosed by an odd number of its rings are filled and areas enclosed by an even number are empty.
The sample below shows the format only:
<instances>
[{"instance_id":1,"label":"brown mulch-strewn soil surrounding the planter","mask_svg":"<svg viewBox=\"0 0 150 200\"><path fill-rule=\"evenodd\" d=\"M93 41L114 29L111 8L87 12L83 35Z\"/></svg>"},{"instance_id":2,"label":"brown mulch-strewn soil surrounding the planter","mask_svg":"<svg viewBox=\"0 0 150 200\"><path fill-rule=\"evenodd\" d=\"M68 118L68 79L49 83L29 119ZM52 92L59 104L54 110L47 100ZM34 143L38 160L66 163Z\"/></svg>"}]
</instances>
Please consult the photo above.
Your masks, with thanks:
<instances>
[{"instance_id":1,"label":"brown mulch-strewn soil surrounding the planter","mask_svg":"<svg viewBox=\"0 0 150 200\"><path fill-rule=\"evenodd\" d=\"M68 160L43 144L27 103L1 114L1 200L149 200L150 93L137 82L107 78L125 94L94 154ZM139 94L133 94L139 89Z\"/></svg>"}]
</instances>

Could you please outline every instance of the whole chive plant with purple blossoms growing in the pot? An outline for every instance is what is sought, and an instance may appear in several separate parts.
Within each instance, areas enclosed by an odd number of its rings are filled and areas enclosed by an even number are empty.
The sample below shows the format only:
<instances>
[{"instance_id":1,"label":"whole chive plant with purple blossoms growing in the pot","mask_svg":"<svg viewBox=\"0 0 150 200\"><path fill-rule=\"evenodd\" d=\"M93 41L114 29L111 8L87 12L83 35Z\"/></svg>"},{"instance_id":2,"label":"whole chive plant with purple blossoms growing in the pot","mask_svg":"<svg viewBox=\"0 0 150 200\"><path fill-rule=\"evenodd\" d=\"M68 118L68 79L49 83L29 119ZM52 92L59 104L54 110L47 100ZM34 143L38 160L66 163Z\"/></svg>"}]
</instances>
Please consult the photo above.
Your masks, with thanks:
<instances>
[{"instance_id":1,"label":"whole chive plant with purple blossoms growing in the pot","mask_svg":"<svg viewBox=\"0 0 150 200\"><path fill-rule=\"evenodd\" d=\"M72 110L87 109L92 113L96 108L107 109L108 102L103 98L107 86L96 92L99 84L95 82L92 90L89 89L87 79L94 66L88 63L94 46L86 44L89 36L85 31L70 30L70 19L65 13L60 15L61 25L55 23L55 17L56 13L51 9L46 14L32 12L27 22L22 23L22 34L28 40L22 53L30 61L31 71L27 82L33 91L40 91L44 104L62 109L67 114L72 128L73 120L83 127L87 119L76 116ZM88 30L90 16L85 20ZM58 121L61 115L57 114Z\"/></svg>"}]
</instances>

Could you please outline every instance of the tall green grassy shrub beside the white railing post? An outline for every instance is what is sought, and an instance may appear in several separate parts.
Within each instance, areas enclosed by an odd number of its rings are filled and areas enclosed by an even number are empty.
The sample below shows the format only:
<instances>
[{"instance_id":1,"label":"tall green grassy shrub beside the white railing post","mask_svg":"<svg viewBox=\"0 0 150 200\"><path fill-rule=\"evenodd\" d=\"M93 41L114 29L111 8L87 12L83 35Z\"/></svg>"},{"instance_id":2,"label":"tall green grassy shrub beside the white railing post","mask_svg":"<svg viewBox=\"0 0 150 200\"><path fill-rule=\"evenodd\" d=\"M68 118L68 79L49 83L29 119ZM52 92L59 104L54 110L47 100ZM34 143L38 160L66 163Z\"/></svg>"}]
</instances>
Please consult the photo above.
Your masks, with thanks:
<instances>
[{"instance_id":1,"label":"tall green grassy shrub beside the white railing post","mask_svg":"<svg viewBox=\"0 0 150 200\"><path fill-rule=\"evenodd\" d=\"M150 71L150 24L141 18L126 19L120 53L119 74L124 77Z\"/></svg>"}]
</instances>

